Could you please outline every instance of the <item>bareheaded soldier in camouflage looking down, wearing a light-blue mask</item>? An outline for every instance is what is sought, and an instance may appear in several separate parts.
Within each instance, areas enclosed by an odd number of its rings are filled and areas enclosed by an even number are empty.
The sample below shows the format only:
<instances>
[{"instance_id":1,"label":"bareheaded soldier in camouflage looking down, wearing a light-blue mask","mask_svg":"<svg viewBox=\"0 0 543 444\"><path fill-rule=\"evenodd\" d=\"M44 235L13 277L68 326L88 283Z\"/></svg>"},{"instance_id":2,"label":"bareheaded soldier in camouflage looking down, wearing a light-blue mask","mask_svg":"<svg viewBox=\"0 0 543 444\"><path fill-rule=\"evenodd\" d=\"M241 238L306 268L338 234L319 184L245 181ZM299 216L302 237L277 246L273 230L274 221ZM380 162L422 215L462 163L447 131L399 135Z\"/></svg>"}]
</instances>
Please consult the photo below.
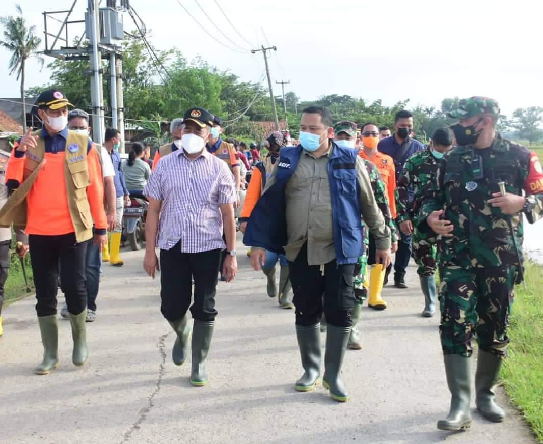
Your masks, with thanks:
<instances>
[{"instance_id":1,"label":"bareheaded soldier in camouflage looking down, wearing a light-blue mask","mask_svg":"<svg viewBox=\"0 0 543 444\"><path fill-rule=\"evenodd\" d=\"M406 236L413 235L413 250L418 269L420 288L424 294L425 307L422 316L431 318L435 314L437 289L435 288L436 248L428 236L416 227L425 188L435 180L435 174L443 155L452 147L453 137L449 128L439 128L434 132L430 145L413 154L403 165L396 186L396 221ZM413 194L413 201L409 200Z\"/></svg>"}]
</instances>

